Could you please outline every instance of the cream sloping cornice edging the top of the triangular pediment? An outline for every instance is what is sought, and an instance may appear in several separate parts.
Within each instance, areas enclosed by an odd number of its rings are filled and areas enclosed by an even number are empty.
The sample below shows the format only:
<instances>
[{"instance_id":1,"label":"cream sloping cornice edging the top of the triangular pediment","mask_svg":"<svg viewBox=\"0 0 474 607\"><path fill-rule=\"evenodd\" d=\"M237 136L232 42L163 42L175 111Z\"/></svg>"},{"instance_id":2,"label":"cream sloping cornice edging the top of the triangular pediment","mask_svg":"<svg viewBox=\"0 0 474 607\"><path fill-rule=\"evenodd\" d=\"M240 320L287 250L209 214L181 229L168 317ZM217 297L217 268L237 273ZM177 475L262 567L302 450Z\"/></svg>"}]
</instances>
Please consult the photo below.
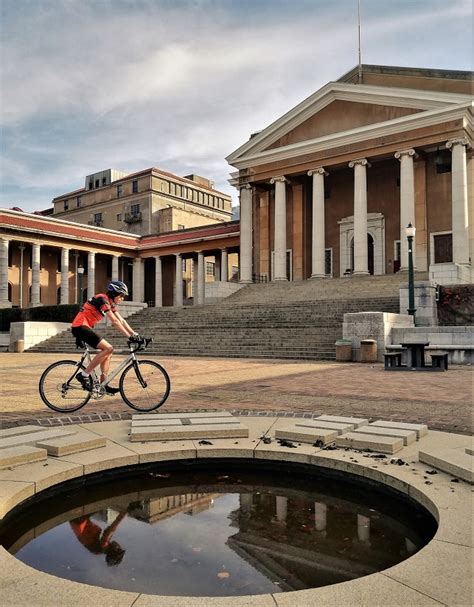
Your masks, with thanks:
<instances>
[{"instance_id":1,"label":"cream sloping cornice edging the top of the triangular pediment","mask_svg":"<svg viewBox=\"0 0 474 607\"><path fill-rule=\"evenodd\" d=\"M262 151L277 141L284 134L314 116L333 101L352 101L355 103L370 103L394 107L433 110L445 108L447 105L468 103L470 95L424 91L417 89L389 88L359 84L343 84L329 82L313 95L302 101L281 118L270 124L266 129L255 135L237 150L227 156L227 162L237 167L242 157ZM382 124L382 123L379 123Z\"/></svg>"}]
</instances>

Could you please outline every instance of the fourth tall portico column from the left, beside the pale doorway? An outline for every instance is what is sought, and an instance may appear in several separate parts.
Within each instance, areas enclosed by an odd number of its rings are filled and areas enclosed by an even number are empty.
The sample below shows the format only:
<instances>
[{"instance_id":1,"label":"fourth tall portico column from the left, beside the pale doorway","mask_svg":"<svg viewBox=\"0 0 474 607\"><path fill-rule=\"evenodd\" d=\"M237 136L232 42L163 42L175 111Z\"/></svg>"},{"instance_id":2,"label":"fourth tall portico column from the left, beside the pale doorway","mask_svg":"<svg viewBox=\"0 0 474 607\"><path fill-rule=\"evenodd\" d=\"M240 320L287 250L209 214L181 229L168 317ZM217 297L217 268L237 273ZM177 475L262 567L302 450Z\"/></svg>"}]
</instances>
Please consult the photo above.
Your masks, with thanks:
<instances>
[{"instance_id":1,"label":"fourth tall portico column from the left, beside the pale doorway","mask_svg":"<svg viewBox=\"0 0 474 607\"><path fill-rule=\"evenodd\" d=\"M369 273L367 259L367 167L366 158L349 162L354 169L354 275Z\"/></svg>"}]
</instances>

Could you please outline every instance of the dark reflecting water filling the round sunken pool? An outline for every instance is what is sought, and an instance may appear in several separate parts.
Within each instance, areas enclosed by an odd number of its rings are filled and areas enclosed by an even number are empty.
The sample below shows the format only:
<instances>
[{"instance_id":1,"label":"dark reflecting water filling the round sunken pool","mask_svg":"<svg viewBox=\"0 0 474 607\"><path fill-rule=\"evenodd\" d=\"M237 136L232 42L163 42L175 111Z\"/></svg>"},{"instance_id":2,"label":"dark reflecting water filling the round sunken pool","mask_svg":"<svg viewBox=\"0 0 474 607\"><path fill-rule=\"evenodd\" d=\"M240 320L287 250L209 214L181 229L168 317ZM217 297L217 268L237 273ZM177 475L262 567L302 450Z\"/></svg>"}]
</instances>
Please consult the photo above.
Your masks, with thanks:
<instances>
[{"instance_id":1,"label":"dark reflecting water filling the round sunken pool","mask_svg":"<svg viewBox=\"0 0 474 607\"><path fill-rule=\"evenodd\" d=\"M393 496L370 493L366 505L367 491L340 482L292 478L288 487L278 481L177 473L174 480L134 479L122 490L115 481L101 495L89 489L59 500L70 504L67 512L51 498L35 510L45 514L33 530L10 524L0 539L24 562L76 581L225 596L368 575L407 558L434 533L432 519ZM53 503L58 511L48 517Z\"/></svg>"}]
</instances>

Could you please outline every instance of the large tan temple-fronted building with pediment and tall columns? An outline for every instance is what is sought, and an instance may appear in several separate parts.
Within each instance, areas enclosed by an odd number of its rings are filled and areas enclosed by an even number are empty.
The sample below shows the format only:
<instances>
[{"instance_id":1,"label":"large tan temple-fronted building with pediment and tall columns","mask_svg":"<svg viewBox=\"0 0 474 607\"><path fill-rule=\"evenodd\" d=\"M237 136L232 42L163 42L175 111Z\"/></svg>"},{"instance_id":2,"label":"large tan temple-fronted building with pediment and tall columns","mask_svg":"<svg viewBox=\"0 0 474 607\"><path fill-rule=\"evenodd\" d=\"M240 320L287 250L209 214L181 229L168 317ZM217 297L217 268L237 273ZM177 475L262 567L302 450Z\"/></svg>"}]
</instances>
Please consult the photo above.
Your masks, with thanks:
<instances>
[{"instance_id":1,"label":"large tan temple-fronted building with pediment and tall columns","mask_svg":"<svg viewBox=\"0 0 474 607\"><path fill-rule=\"evenodd\" d=\"M240 276L405 270L473 282L473 73L363 65L227 157L240 190Z\"/></svg>"}]
</instances>

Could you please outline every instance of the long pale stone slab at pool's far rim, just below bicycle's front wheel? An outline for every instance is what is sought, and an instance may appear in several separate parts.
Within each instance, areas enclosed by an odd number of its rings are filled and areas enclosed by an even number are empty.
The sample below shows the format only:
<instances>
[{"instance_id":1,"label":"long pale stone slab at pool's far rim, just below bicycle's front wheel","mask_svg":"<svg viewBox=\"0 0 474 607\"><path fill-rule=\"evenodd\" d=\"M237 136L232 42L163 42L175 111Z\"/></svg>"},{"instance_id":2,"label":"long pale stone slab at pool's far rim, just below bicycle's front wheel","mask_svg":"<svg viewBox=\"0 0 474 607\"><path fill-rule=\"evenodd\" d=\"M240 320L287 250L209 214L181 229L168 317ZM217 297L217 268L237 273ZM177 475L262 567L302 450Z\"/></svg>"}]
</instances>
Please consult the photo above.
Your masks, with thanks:
<instances>
[{"instance_id":1,"label":"long pale stone slab at pool's far rim, just below bicycle's front wheel","mask_svg":"<svg viewBox=\"0 0 474 607\"><path fill-rule=\"evenodd\" d=\"M242 424L213 424L189 425L178 428L176 426L149 426L132 427L130 441L154 441L154 440L185 440L185 439L207 439L207 438L247 438L248 428Z\"/></svg>"}]
</instances>

